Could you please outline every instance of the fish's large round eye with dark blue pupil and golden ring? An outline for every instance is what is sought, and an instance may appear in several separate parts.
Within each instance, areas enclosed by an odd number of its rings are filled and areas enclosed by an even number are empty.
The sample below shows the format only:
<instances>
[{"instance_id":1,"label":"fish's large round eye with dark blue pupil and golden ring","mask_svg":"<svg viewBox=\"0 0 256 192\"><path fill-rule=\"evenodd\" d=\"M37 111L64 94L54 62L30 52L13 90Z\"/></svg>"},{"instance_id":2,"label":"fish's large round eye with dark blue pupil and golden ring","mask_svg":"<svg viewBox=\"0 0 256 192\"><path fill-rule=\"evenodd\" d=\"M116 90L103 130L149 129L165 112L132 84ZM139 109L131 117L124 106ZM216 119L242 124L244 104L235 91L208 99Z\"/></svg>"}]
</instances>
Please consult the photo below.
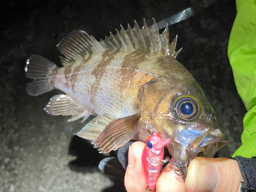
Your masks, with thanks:
<instances>
[{"instance_id":1,"label":"fish's large round eye with dark blue pupil and golden ring","mask_svg":"<svg viewBox=\"0 0 256 192\"><path fill-rule=\"evenodd\" d=\"M200 114L200 101L196 101L198 99L194 98L194 96L182 96L178 98L175 102L175 111L177 115L183 120L194 120Z\"/></svg>"}]
</instances>

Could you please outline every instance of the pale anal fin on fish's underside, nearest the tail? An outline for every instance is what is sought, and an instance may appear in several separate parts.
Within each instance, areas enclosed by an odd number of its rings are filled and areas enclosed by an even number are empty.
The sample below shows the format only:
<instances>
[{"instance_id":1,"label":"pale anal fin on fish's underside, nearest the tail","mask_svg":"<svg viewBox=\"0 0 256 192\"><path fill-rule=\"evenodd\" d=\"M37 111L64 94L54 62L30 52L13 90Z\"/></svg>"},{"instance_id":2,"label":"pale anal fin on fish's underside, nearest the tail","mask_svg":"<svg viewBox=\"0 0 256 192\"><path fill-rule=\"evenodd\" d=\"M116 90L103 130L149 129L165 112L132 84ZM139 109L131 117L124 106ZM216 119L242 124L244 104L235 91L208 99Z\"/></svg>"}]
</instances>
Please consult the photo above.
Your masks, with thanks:
<instances>
[{"instance_id":1,"label":"pale anal fin on fish's underside, nearest the tail","mask_svg":"<svg viewBox=\"0 0 256 192\"><path fill-rule=\"evenodd\" d=\"M91 114L84 107L73 100L69 95L53 96L44 109L50 115L72 115L68 122L75 121L83 117L86 120Z\"/></svg>"}]
</instances>

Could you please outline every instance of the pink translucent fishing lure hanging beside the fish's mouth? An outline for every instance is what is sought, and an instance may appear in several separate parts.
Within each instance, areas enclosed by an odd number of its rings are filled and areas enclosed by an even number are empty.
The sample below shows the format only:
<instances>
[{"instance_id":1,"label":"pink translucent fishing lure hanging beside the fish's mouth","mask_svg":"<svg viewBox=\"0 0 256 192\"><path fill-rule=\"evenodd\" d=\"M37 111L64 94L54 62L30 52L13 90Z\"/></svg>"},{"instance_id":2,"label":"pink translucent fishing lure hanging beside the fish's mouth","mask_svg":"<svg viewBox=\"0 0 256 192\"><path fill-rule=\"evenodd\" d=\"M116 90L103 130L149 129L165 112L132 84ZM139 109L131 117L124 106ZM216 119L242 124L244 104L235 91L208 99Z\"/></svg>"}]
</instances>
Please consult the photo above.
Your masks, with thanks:
<instances>
[{"instance_id":1,"label":"pink translucent fishing lure hanging beside the fish's mouth","mask_svg":"<svg viewBox=\"0 0 256 192\"><path fill-rule=\"evenodd\" d=\"M162 167L164 145L169 141L169 138L162 139L159 133L153 132L153 135L145 142L141 159L144 177L148 188L151 190L156 188L157 179Z\"/></svg>"}]
</instances>

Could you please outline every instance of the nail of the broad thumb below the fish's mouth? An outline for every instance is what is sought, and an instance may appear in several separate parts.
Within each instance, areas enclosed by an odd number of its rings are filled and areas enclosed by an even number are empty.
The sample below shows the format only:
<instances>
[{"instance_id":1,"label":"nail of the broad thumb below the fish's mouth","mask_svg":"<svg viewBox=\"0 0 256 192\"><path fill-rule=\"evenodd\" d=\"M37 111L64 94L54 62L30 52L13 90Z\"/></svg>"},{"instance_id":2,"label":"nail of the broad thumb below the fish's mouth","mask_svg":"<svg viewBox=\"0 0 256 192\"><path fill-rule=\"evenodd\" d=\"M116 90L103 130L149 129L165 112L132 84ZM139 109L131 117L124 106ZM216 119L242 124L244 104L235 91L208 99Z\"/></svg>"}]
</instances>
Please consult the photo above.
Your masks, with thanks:
<instances>
[{"instance_id":1,"label":"nail of the broad thumb below the fish's mouth","mask_svg":"<svg viewBox=\"0 0 256 192\"><path fill-rule=\"evenodd\" d=\"M197 192L213 192L216 190L220 180L220 172L217 166L211 164L200 164L197 176Z\"/></svg>"}]
</instances>

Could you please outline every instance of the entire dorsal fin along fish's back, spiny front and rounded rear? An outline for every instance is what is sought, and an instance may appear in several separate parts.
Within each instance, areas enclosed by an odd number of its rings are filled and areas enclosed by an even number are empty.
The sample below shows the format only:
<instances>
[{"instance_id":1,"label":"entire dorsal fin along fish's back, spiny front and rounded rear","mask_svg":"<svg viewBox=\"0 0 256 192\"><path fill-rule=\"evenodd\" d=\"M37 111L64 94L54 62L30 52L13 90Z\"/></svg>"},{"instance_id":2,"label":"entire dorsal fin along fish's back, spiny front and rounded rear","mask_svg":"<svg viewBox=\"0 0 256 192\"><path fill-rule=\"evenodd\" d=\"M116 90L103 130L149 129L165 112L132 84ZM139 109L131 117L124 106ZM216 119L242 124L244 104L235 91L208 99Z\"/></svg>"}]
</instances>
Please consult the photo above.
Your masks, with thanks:
<instances>
[{"instance_id":1,"label":"entire dorsal fin along fish's back, spiny front and rounded rear","mask_svg":"<svg viewBox=\"0 0 256 192\"><path fill-rule=\"evenodd\" d=\"M159 34L156 20L153 18L153 25L147 27L144 20L144 26L139 28L136 21L134 21L134 28L127 25L124 30L117 31L116 35L110 33L109 37L99 42L84 31L73 31L64 40L57 45L60 53L60 60L63 66L69 66L71 63L82 57L89 57L89 55L106 49L110 50L137 50L148 53L155 53L160 55L168 55L176 58L179 51L175 51L177 35L172 43L169 44L169 30L166 25L162 34Z\"/></svg>"}]
</instances>

